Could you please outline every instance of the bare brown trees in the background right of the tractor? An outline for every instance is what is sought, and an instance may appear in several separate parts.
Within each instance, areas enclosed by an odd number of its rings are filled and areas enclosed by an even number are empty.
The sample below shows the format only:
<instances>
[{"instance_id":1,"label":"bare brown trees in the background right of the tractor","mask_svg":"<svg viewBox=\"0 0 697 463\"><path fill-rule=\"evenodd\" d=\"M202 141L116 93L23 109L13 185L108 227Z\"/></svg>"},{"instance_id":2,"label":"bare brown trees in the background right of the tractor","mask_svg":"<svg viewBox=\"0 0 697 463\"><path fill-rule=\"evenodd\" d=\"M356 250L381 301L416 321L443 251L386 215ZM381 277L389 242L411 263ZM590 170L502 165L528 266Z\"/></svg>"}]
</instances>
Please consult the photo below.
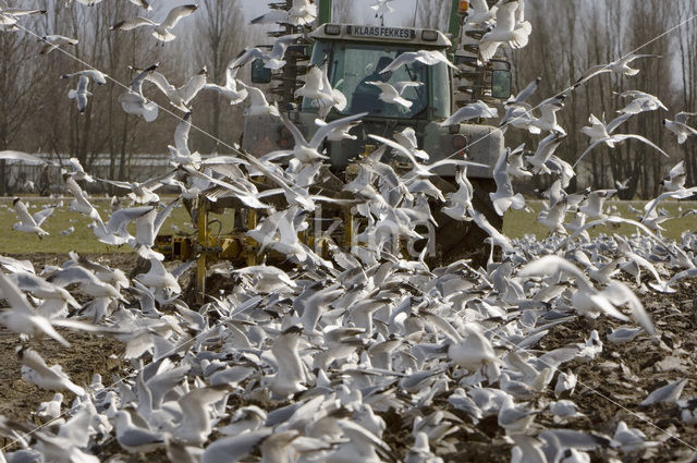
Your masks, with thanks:
<instances>
[{"instance_id":1,"label":"bare brown trees in the background right of the tractor","mask_svg":"<svg viewBox=\"0 0 697 463\"><path fill-rule=\"evenodd\" d=\"M632 66L640 70L635 76L606 73L572 92L565 108L558 113L568 136L557 154L573 163L589 145L588 137L579 132L588 125L588 117L592 113L600 119L604 113L610 121L628 102L617 93L641 90L659 97L670 111L637 114L615 133L644 135L669 153L671 159L634 141L614 149L597 147L578 165L577 186L608 188L628 180L620 197L655 197L660 191L660 180L681 159L687 168L687 184L697 183L697 137L678 145L662 124L665 118L673 120L676 112L697 111L696 14L694 0L526 0L526 16L534 27L530 41L510 56L516 88L542 77L533 103L568 88L592 65L609 63L635 50L661 57L634 61ZM697 124L697 118L690 123ZM528 143L529 149L537 146L538 137L519 131L509 134L506 142L511 146L522 141Z\"/></svg>"}]
</instances>

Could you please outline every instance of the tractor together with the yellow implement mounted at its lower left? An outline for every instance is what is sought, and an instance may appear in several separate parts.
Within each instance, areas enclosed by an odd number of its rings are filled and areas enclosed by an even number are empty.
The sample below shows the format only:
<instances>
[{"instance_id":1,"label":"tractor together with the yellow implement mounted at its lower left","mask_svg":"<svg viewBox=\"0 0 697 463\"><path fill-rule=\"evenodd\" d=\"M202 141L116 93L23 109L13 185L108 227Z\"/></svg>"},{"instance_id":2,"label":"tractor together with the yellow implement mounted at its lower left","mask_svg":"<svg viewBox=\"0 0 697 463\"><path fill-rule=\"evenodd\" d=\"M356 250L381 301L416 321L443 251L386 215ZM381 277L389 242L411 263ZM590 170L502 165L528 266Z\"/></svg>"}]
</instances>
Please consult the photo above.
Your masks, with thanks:
<instances>
[{"instance_id":1,"label":"tractor together with the yellow implement mounted at its lower left","mask_svg":"<svg viewBox=\"0 0 697 463\"><path fill-rule=\"evenodd\" d=\"M284 31L270 33L281 36L302 32L299 45L286 50L286 64L280 71L264 66L259 59L252 63L252 82L268 84L270 93L278 96L279 109L291 120L303 135L309 139L318 126L318 108L308 98L296 98L295 92L303 84L303 74L309 66L327 64L327 75L331 86L346 97L344 110L333 109L326 118L332 121L346 115L367 111L360 119L362 124L352 131L355 139L325 142L325 153L329 157L320 174L321 182L314 186L315 192L325 196L350 199L342 187L353 180L357 169L355 160L377 149L368 134L391 137L394 132L412 127L419 147L429 154L429 162L447 158L463 158L479 162L489 168L469 168L467 176L474 186L474 207L482 212L489 222L501 229L499 217L489 199L494 191L492 167L503 146L502 133L493 126L480 123L462 123L441 126L452 111L465 103L484 100L498 102L511 94L511 72L509 63L494 59L481 64L477 59L477 41L486 31L463 31L463 19L468 3L453 0L450 12L448 34L437 29L418 27L368 26L340 24L332 22L332 1L319 0L317 21L311 31L303 26L284 25ZM493 1L490 1L493 3ZM291 0L272 4L273 8L290 9ZM375 75L381 60L390 61L404 52L418 50L439 50L457 65L453 71L445 63L425 65L412 62L393 72L390 82L412 81L419 86L408 87L403 96L413 103L409 108L399 105L383 105L377 99L366 101L360 98L357 87L362 80ZM478 121L475 121L478 122ZM242 148L248 154L260 157L280 149L292 149L293 136L278 117L269 114L247 114L244 121ZM400 169L399 162L395 169ZM433 183L443 192L456 190L452 166L433 169ZM270 187L261 181L259 191ZM213 188L215 190L215 188ZM173 259L186 259L198 256L197 293L204 294L206 270L215 260L232 260L254 265L261 259L262 246L249 237L248 230L257 227L262 210L245 207L240 200L225 198L222 191L204 192L194 206L192 218L197 228L194 237L159 236L158 247ZM220 197L219 197L220 196ZM213 199L213 200L211 200ZM281 206L283 207L283 206ZM442 205L441 205L442 207ZM455 221L433 207L438 227L429 233L429 242L441 260L463 257L468 253L484 252L484 239L487 234L472 222ZM222 230L211 221L210 215L222 212L231 215L232 230ZM308 229L299 236L301 241L313 247L318 254L327 252L329 246L338 245L350 249L360 229L350 202L334 204L322 210L321 218L309 220ZM435 236L435 242L433 242ZM414 243L402 243L412 246ZM264 254L273 259L274 254ZM282 257L279 255L278 257Z\"/></svg>"}]
</instances>

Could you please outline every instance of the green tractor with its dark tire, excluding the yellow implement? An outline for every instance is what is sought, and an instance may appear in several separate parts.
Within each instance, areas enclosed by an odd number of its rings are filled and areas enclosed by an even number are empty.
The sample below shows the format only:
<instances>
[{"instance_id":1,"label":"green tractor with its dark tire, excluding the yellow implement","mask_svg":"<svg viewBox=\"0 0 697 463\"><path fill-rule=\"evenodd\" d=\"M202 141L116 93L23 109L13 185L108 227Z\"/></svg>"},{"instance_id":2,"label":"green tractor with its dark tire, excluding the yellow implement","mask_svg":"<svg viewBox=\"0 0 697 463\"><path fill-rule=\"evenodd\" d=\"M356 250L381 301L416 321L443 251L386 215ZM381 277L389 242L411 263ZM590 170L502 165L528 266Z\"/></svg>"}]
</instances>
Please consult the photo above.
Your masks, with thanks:
<instances>
[{"instance_id":1,"label":"green tractor with its dark tire, excluding the yellow implement","mask_svg":"<svg viewBox=\"0 0 697 463\"><path fill-rule=\"evenodd\" d=\"M480 123L439 125L458 106L479 99L490 103L499 102L511 94L509 63L493 59L482 65L477 60L476 45L467 45L476 44L486 32L462 32L467 2L453 0L448 35L440 31L416 27L337 24L331 22L331 0L319 0L318 7L317 22L320 25L306 35L307 45L289 49L286 65L276 75L281 85L271 92L280 95L281 111L309 139L317 130L315 120L318 118L318 109L308 98L297 100L294 96L295 89L303 84L298 78L304 68L301 63L307 59L308 65L327 63L332 87L340 89L347 100L345 109L333 109L327 121L368 112L368 115L362 118L363 123L352 131L356 139L326 143L331 172L344 182L347 181L352 162L362 154L376 148L376 142L368 137L369 134L392 137L395 132L413 127L419 148L430 156L429 162L447 158L462 159L466 156L468 160L489 166L470 167L467 176L475 191L475 208L501 230L503 220L493 210L489 193L496 191L492 168L504 149L503 134L494 126ZM271 35L292 32L295 31L286 27L285 32ZM403 92L402 96L412 102L409 108L380 101L377 98L379 92L366 93L365 82L377 78L384 62L392 61L401 53L418 50L442 51L457 65L458 71L453 71L445 63L429 66L418 61L396 69L388 82L394 84L411 81L423 84L407 87ZM253 63L253 83L268 84L272 78L271 71L264 68L260 60ZM292 146L293 137L278 118L266 114L245 118L242 147L246 151L262 156ZM438 176L433 183L443 193L456 190L454 167L439 167L435 172ZM457 222L440 214L441 207L442 204L431 208L438 222L436 249L439 260L474 256L473 254L481 257L486 247L482 242L487 234L472 222Z\"/></svg>"}]
</instances>

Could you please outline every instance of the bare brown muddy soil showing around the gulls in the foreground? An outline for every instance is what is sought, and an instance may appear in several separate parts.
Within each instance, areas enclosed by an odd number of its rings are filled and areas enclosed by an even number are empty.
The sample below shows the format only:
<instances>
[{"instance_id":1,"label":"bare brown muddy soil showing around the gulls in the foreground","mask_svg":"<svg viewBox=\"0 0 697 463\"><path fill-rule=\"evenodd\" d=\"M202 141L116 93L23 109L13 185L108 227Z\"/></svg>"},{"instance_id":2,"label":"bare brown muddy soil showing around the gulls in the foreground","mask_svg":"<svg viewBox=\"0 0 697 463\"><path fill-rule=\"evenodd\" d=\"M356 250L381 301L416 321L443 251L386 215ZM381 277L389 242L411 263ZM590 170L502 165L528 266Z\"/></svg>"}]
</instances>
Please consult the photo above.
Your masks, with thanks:
<instances>
[{"instance_id":1,"label":"bare brown muddy soil showing around the gulls in the foreground","mask_svg":"<svg viewBox=\"0 0 697 463\"><path fill-rule=\"evenodd\" d=\"M27 254L13 257L29 258L37 271L46 265L60 265L68 258L63 255ZM135 264L135 255L129 254L87 257L126 272ZM220 290L218 284L220 282L216 284L216 290ZM571 399L579 405L585 416L559 424L553 422L549 411L545 411L535 419L540 430L542 427L568 427L612 436L617 423L624 421L629 427L644 430L648 440L657 442L656 447L634 453L596 451L591 452L592 462L604 462L612 456L623 462L697 462L697 452L690 448L697 447L697 426L684 424L676 405L638 405L652 390L678 378L689 379L682 398L697 397L697 279L683 280L678 288L674 294L639 292L661 333L660 341L639 336L633 342L613 344L607 340L607 333L620 324L607 317L591 321L577 319L550 330L535 349L550 351L583 343L590 330L596 329L603 341L603 350L590 363L576 361L563 367L564 370L574 370L578 376L578 386ZM76 383L89 385L91 375L99 373L103 383L110 385L131 371L132 365L120 360L124 349L120 342L84 333L61 333L73 344L71 349L62 348L50 339L32 340L28 345L39 351L49 365L60 363ZM50 400L53 392L41 390L22 379L15 354L19 344L17 336L4 329L0 331L0 355L4 358L0 364L0 377L3 378L0 382L0 415L37 423L33 412L40 402ZM557 375L551 385L555 381ZM71 393L65 393L65 397L68 404L73 397ZM548 388L546 394L537 399L537 404L541 409L551 400L555 398L551 388ZM234 403L231 399L230 404ZM445 462L511 461L512 444L506 441L496 418L485 419L475 426L465 414L452 409L444 398L437 398L433 407L448 410L464 421L462 430L444 438L453 449L442 454ZM412 443L409 431L413 418L393 412L381 415L388 423L386 442L400 452L398 456L403 458ZM125 454L114 441L106 442L97 453L102 461L117 453L120 461L124 462L168 461L163 452L149 454L147 460L142 455Z\"/></svg>"}]
</instances>

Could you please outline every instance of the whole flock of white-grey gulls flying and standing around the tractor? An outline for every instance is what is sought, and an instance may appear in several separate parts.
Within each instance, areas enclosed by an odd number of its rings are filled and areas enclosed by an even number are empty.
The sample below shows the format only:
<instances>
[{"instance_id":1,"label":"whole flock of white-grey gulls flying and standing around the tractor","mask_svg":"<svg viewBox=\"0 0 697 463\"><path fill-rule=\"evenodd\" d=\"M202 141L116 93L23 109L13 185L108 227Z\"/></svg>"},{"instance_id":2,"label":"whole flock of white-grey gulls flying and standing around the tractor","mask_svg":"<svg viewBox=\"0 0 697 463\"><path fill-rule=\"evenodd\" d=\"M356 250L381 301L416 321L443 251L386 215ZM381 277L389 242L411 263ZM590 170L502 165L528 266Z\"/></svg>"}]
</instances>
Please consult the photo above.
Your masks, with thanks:
<instances>
[{"instance_id":1,"label":"whole flock of white-grey gulls flying and standing around the tractor","mask_svg":"<svg viewBox=\"0 0 697 463\"><path fill-rule=\"evenodd\" d=\"M99 0L77 2L90 5ZM376 11L389 11L388 2L379 0ZM195 7L178 7L161 23L126 20L113 28L151 26L158 40L171 40L172 28ZM23 14L29 13L2 9L0 22L12 31ZM295 0L291 11L273 11L254 23L303 26L314 15L314 4ZM481 38L485 60L499 44L523 46L530 33L523 0L502 0L492 9L484 0L472 1L465 22L490 29ZM697 187L685 186L684 163L671 169L662 182L663 193L636 210L636 220L622 218L606 205L616 190L566 193L575 166L554 156L554 150L566 136L555 114L567 94L538 105L538 118L527 102L537 80L503 105L499 124L502 131L526 130L542 138L531 156L524 156L525 146L500 154L493 168L497 191L490 196L501 216L509 208L523 209L525 198L514 192L511 178L551 175L537 219L550 229L547 239L510 240L492 227L472 203L467 168L475 163L466 159L426 163L429 155L419 149L413 129L393 134L394 139L370 135L381 147L356 159L357 175L343 185L352 199L322 196L315 185L331 175L321 168L327 158L323 141L354 137L348 132L366 113L325 122L333 108L345 107L346 98L331 87L326 66L310 69L298 96L313 100L320 118L317 133L307 141L261 90L235 78L252 58L279 69L285 48L296 38L281 37L269 53L244 51L231 60L224 84L208 83L205 68L181 87L159 74L158 64L136 70L119 97L127 113L148 122L157 118L157 105L143 93L145 82L154 83L184 112L169 146L171 169L158 178L140 183L97 179L77 159L65 169L29 154L0 151L3 160L60 169L73 197L69 210L88 218L95 237L111 246L132 246L149 261L147 271L129 277L76 253L60 266L42 269L0 256L0 298L5 307L0 324L20 336L20 373L38 388L56 391L36 411L35 418L44 423L40 428L0 417L0 434L14 443L0 451L0 461L98 462L114 439L124 452L162 450L172 462L200 463L258 458L268 463L437 463L456 458L468 441L482 438L511 448L514 462L584 463L594 451L620 461L658 446L622 419L612 424L611 431L574 430L574 423L585 416L575 402L575 389L584 378L575 369L599 360L606 343L649 340L649 345L660 346L663 342L637 294L672 293L680 290L681 280L697 276L697 234L685 232L678 242L661 235L661 223L671 218L662 202L697 193ZM72 44L60 36L44 40L46 52ZM387 69L415 60L427 65L447 61L439 52L404 54ZM626 64L640 57L592 68L576 84L607 72L636 74ZM69 96L80 111L90 95L88 82L107 83L97 70L64 77L78 77ZM216 90L230 103L249 100L248 114L278 117L292 133L294 147L261 158L240 150L212 158L192 151L189 105L201 89ZM621 115L606 123L591 114L590 125L582 129L589 147L580 157L598 145L613 147L629 137L665 155L639 135L619 135L614 130L641 112L667 108L638 90L621 98L628 100ZM392 102L403 103L395 98ZM697 133L687 125L689 115L681 112L674 121L664 121L678 143ZM498 118L498 110L479 101L442 124L475 118ZM409 162L412 170L398 172L384 161L388 150ZM453 193L443 194L431 181L432 169L444 163L455 171ZM273 187L259 191L254 182L259 175ZM112 202L109 218L90 203L84 191L89 182L123 190ZM181 193L167 204L157 193L164 185ZM155 236L173 208L180 207L180 199L203 195L216 200L220 192L266 212L248 235L261 252L281 253L294 267L284 270L266 261L221 266L216 272L227 276L231 287L192 307L180 279L193 263L166 267L163 256L154 249ZM288 207L267 203L281 195ZM347 202L362 219L357 243L350 251L332 241L333 226L322 236L328 255L298 239L310 226L310 214L328 202ZM431 268L426 263L428 246L413 257L394 249L395 236L425 237L416 230L436 222L432 207L454 220L474 221L489 234L486 266L475 268L461 259ZM13 209L16 232L47 234L41 227L54 208L32 215L16 198ZM572 222L568 214L574 215ZM617 223L635 227L636 234L591 239L588 233L594 227ZM500 259L494 259L494 248L501 249ZM559 345L558 341L554 349L546 349L548 334L579 320L591 328L612 328L589 329L584 342ZM123 357L132 368L113 381L95 374L91 383L78 385L60 365L48 365L40 349L25 342L44 338L41 343L68 348L70 341L61 334L65 329L124 343ZM626 377L634 374L622 368ZM687 378L677 378L646 392L640 404L627 406L661 403L673 407L684 424L695 425L697 400L681 399L688 385ZM484 432L485 424L494 430Z\"/></svg>"}]
</instances>

